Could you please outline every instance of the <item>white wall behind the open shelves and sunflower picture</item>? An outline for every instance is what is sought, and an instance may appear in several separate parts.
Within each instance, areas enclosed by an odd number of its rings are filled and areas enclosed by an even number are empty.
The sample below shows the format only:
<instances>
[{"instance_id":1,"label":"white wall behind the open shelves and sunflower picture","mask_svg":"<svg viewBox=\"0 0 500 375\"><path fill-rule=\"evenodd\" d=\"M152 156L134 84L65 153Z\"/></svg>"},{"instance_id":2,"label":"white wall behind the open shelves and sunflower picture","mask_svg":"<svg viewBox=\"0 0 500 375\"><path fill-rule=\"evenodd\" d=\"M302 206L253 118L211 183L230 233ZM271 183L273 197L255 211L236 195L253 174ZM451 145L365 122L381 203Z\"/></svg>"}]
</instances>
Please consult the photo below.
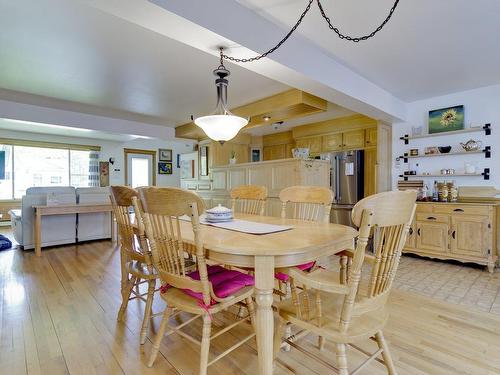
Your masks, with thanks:
<instances>
[{"instance_id":1,"label":"white wall behind the open shelves and sunflower picture","mask_svg":"<svg viewBox=\"0 0 500 375\"><path fill-rule=\"evenodd\" d=\"M471 124L484 125L491 123L492 134L485 136L484 133L469 133L444 135L435 138L424 138L410 140L408 145L399 139L404 134L411 135L412 126L422 126L423 133L427 133L427 119L429 110L449 107L454 105L464 105L465 127ZM400 167L396 165L396 158L410 148L418 148L419 153L423 153L426 146L452 146L452 151L460 151L459 142L466 142L469 139L483 141L483 146L491 146L491 159L485 159L483 154L455 155L432 158L409 159L411 169L415 163L419 163L419 173L430 172L439 173L442 168L454 168L456 173L463 173L465 162L474 162L476 166L491 169L490 180L483 180L482 177L447 177L426 178L429 187L435 179L456 180L459 186L480 186L494 185L500 187L500 85L488 86L479 89L457 92L450 95L438 96L425 100L419 100L408 104L408 121L393 125L393 188L397 185L398 176L408 169L408 164L401 160Z\"/></svg>"}]
</instances>

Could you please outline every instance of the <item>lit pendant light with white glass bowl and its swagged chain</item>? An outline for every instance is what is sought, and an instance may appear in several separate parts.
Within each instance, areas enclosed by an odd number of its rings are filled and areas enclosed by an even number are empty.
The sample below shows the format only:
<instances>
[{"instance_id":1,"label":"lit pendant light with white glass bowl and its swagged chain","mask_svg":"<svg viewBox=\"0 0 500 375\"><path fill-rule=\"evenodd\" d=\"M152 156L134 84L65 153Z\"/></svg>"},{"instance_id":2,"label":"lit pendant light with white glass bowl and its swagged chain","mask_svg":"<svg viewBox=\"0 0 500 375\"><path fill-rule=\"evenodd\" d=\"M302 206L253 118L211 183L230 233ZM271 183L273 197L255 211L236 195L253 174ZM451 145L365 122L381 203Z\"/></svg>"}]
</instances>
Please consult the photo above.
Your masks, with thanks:
<instances>
[{"instance_id":1,"label":"lit pendant light with white glass bowl and its swagged chain","mask_svg":"<svg viewBox=\"0 0 500 375\"><path fill-rule=\"evenodd\" d=\"M210 138L215 141L220 142L223 144L226 141L229 141L236 137L238 132L243 129L247 124L248 124L248 119L233 115L229 109L227 108L227 85L228 85L228 80L227 77L229 76L229 70L226 69L224 66L224 59L236 62L236 63L248 63L248 62L254 62L258 61L267 55L273 53L276 51L278 48L280 48L283 43L285 43L288 38L293 34L295 30L299 27L299 25L302 23L302 20L306 16L306 14L309 12L311 9L311 6L313 2L316 2L318 5L319 11L321 13L321 16L324 18L326 23L328 24L328 27L330 30L334 31L337 36L345 41L348 42L354 42L354 43L359 43L365 40L368 40L370 38L373 38L375 34L377 34L380 30L384 28L384 26L389 22L391 19L394 11L396 10L396 7L398 6L400 0L395 0L394 4L392 5L391 9L389 10L388 15L386 18L382 21L382 23L371 33L362 35L362 36L350 36L343 34L338 27L334 26L330 20L330 17L327 16L325 9L323 5L321 4L320 0L308 0L307 6L300 15L299 19L295 23L295 25L292 27L292 29L276 44L274 47L270 48L266 52L254 56L254 57L248 57L248 58L237 58L233 56L228 56L224 54L223 48L220 48L220 65L217 69L214 70L215 76L218 78L215 80L215 86L217 87L217 106L215 107L215 112L211 115L208 116L202 116L194 119L194 123L198 125L205 134ZM193 116L191 116L191 119L193 119Z\"/></svg>"}]
</instances>

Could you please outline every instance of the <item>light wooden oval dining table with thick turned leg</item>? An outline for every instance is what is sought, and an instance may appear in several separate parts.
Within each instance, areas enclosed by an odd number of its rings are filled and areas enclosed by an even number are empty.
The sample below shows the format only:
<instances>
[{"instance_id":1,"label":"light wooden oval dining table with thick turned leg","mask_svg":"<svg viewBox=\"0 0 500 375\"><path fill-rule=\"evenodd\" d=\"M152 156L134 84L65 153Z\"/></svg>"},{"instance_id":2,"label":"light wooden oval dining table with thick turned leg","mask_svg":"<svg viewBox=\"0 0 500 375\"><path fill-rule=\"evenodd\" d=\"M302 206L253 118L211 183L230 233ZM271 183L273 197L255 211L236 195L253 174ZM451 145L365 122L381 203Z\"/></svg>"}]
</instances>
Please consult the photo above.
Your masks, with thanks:
<instances>
[{"instance_id":1,"label":"light wooden oval dining table with thick turned leg","mask_svg":"<svg viewBox=\"0 0 500 375\"><path fill-rule=\"evenodd\" d=\"M290 230L254 235L202 225L202 241L211 261L255 269L256 334L259 374L273 373L273 289L277 268L296 266L353 248L357 231L332 223L270 216L235 215L237 219L292 226ZM193 244L190 222L181 223L183 241Z\"/></svg>"}]
</instances>

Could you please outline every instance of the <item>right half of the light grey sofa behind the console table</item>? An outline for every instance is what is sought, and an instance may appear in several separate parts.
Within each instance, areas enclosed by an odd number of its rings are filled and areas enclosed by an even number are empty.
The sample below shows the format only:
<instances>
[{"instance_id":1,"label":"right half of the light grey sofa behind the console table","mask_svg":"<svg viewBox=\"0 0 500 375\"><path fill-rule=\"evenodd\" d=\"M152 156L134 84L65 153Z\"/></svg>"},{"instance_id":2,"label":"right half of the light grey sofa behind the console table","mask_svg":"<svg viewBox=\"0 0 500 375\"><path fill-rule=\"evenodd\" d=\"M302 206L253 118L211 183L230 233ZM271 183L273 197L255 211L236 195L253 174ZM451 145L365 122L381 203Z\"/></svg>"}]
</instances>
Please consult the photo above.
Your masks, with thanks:
<instances>
[{"instance_id":1,"label":"right half of the light grey sofa behind the console table","mask_svg":"<svg viewBox=\"0 0 500 375\"><path fill-rule=\"evenodd\" d=\"M78 204L111 203L107 187L77 188L76 200ZM111 213L78 214L77 220L78 242L111 238Z\"/></svg>"}]
</instances>

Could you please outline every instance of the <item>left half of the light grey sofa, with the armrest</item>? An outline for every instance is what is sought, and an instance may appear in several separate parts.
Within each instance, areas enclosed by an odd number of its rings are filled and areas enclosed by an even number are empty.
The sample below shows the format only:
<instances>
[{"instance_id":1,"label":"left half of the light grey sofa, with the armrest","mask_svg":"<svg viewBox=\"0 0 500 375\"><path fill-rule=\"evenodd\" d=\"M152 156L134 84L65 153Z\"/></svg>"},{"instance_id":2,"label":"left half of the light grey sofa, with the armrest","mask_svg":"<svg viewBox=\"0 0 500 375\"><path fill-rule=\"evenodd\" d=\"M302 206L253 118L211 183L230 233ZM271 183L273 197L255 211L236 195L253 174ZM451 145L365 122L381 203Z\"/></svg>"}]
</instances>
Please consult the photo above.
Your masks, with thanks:
<instances>
[{"instance_id":1,"label":"left half of the light grey sofa, with the armrest","mask_svg":"<svg viewBox=\"0 0 500 375\"><path fill-rule=\"evenodd\" d=\"M21 209L11 210L12 230L15 240L25 250L35 247L33 206L55 203L75 204L74 187L31 187L21 199ZM76 239L76 215L42 216L42 247L74 243Z\"/></svg>"}]
</instances>

